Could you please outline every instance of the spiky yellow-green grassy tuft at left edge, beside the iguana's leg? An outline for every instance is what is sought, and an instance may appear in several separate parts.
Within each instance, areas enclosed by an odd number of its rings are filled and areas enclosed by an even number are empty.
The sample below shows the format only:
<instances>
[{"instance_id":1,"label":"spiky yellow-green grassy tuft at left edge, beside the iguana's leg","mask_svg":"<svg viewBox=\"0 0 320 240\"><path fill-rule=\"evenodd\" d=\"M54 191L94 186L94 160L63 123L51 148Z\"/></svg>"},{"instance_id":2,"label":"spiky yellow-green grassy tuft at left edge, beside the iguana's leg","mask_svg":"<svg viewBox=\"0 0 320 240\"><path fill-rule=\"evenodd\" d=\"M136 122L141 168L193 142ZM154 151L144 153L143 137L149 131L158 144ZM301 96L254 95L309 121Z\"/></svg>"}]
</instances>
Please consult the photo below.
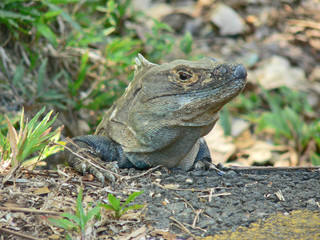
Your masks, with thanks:
<instances>
[{"instance_id":1,"label":"spiky yellow-green grassy tuft at left edge, beside the iguana's leg","mask_svg":"<svg viewBox=\"0 0 320 240\"><path fill-rule=\"evenodd\" d=\"M11 165L18 167L26 162L28 157L33 153L37 151L43 153L47 148L50 148L50 146L48 146L50 142L56 141L56 137L59 136L62 127L51 132L50 126L57 117L56 115L50 120L53 111L49 112L40 122L38 122L40 115L44 111L45 107L28 122L28 120L26 121L24 119L24 111L22 110L19 133L5 115L8 124L8 137L5 137L2 132L0 132L0 150L3 160L11 158ZM42 154L38 157L38 160L41 159L43 159Z\"/></svg>"}]
</instances>

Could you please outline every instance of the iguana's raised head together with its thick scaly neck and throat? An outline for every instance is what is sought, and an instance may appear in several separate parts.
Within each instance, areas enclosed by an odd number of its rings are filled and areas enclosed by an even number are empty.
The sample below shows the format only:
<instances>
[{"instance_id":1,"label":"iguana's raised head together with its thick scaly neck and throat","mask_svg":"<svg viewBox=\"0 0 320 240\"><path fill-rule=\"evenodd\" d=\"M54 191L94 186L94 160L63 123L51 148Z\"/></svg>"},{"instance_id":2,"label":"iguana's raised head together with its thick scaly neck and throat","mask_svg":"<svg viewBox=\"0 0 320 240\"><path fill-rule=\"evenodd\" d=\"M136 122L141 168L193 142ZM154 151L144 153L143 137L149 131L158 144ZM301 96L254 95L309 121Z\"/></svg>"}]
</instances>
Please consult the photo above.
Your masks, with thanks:
<instances>
[{"instance_id":1,"label":"iguana's raised head together with its thick scaly neck and throat","mask_svg":"<svg viewBox=\"0 0 320 240\"><path fill-rule=\"evenodd\" d=\"M203 58L157 65L139 54L134 80L96 133L107 132L125 151L161 149L183 135L192 147L242 91L246 77L241 64Z\"/></svg>"}]
</instances>

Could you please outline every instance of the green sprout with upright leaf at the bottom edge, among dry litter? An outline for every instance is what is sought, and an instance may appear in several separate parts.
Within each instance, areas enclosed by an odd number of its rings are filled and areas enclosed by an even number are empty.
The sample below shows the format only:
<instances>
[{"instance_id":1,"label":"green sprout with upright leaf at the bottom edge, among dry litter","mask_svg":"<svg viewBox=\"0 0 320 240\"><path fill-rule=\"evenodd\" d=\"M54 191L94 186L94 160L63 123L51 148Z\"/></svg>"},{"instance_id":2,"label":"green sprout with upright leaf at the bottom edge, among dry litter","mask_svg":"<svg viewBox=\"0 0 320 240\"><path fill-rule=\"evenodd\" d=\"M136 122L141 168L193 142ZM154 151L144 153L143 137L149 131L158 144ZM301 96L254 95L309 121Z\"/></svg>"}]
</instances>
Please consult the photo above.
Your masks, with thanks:
<instances>
[{"instance_id":1,"label":"green sprout with upright leaf at the bottom edge, among dry litter","mask_svg":"<svg viewBox=\"0 0 320 240\"><path fill-rule=\"evenodd\" d=\"M100 207L96 206L86 212L82 204L82 195L83 195L83 187L81 186L80 191L78 193L78 197L77 197L75 214L64 212L60 215L62 218L59 218L59 219L49 218L47 221L51 224L54 224L58 227L61 227L67 230L71 235L72 235L72 230L75 230L78 235L81 235L81 239L87 239L86 238L86 229L88 227L87 224L94 217L98 216ZM69 235L67 236L69 239L71 239Z\"/></svg>"}]
</instances>

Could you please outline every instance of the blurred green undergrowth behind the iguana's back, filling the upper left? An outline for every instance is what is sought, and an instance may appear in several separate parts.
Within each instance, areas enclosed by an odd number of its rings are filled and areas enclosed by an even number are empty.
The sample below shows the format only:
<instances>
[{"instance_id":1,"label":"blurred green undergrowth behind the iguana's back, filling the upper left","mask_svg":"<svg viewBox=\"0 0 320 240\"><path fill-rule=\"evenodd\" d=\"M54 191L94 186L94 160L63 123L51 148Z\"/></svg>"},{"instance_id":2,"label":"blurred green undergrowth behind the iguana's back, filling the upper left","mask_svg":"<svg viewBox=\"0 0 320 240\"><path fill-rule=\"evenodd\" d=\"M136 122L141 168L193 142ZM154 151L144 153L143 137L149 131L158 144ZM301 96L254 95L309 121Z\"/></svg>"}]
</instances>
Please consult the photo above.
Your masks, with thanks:
<instances>
[{"instance_id":1,"label":"blurred green undergrowth behind the iguana's back, filling the upper left","mask_svg":"<svg viewBox=\"0 0 320 240\"><path fill-rule=\"evenodd\" d=\"M77 129L74 125L81 118L80 111L93 110L90 113L95 128L104 110L132 80L137 54L142 52L148 59L159 61L170 53L175 44L172 29L153 20L146 39L140 39L137 29L128 26L141 21L144 14L134 11L130 3L130 0L4 0L0 3L1 48L6 49L0 61L0 71L4 73L0 78L0 92L4 93L2 101L7 104L3 106L7 107L4 113L10 116L12 129L15 126L16 132L19 128L20 132L29 132L34 124L40 126L43 121L37 119L44 109L38 110L43 106L67 117L72 112L74 120L66 123L69 129ZM190 36L187 42L183 41L181 49L189 54ZM7 99L13 100L6 102ZM15 111L10 112L11 108ZM22 108L27 116L36 114L26 129L21 125L23 112L18 124ZM11 146L12 136L2 113L0 130L2 160L15 148L30 155L26 151L28 147L22 144L29 134L17 140L19 147ZM70 134L76 133L70 131ZM42 146L44 142L37 140L30 137L28 141Z\"/></svg>"}]
</instances>

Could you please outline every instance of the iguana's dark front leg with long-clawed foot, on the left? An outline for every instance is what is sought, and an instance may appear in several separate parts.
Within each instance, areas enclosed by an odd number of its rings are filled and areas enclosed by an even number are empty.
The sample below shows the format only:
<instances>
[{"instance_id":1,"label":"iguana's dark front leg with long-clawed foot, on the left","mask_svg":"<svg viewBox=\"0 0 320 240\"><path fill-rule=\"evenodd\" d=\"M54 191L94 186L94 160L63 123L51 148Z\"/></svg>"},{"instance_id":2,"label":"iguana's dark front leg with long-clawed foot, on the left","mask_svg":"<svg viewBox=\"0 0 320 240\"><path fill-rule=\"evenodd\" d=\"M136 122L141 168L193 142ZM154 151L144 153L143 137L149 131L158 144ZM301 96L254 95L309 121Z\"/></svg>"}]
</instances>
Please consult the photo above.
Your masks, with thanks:
<instances>
[{"instance_id":1,"label":"iguana's dark front leg with long-clawed foot, on the left","mask_svg":"<svg viewBox=\"0 0 320 240\"><path fill-rule=\"evenodd\" d=\"M66 145L65 155L71 167L83 174L92 173L102 183L105 178L113 182L115 179L112 172L118 167L133 167L132 163L124 156L121 147L103 136L75 137L72 139L72 143ZM117 163L109 165L106 169L105 166L101 166L102 162Z\"/></svg>"}]
</instances>

